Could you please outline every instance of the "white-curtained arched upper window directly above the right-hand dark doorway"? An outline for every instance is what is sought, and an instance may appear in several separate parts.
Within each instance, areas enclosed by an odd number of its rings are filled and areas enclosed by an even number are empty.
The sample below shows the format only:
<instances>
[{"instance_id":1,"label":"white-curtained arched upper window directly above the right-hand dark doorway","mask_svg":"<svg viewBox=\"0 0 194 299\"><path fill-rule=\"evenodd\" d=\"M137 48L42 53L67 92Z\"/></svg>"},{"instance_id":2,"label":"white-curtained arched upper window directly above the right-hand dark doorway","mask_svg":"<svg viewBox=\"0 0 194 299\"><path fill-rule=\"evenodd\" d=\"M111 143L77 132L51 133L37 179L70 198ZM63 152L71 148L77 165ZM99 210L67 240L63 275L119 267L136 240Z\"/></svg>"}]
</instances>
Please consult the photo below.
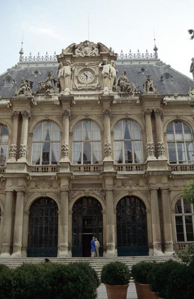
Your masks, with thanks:
<instances>
[{"instance_id":1,"label":"white-curtained arched upper window directly above the right-hand dark doorway","mask_svg":"<svg viewBox=\"0 0 194 299\"><path fill-rule=\"evenodd\" d=\"M114 160L116 163L142 163L142 138L139 126L122 120L114 127Z\"/></svg>"}]
</instances>

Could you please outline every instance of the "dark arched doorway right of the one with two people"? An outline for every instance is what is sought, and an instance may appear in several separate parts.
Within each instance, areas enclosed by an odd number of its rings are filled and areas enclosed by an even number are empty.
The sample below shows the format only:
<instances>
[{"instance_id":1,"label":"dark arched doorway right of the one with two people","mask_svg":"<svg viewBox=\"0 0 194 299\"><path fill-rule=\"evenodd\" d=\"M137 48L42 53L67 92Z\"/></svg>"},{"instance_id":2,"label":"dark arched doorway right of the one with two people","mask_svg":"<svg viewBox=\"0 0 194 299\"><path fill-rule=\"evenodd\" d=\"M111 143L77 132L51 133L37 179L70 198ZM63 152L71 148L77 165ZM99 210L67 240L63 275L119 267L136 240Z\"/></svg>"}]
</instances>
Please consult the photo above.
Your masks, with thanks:
<instances>
[{"instance_id":1,"label":"dark arched doorway right of the one with two people","mask_svg":"<svg viewBox=\"0 0 194 299\"><path fill-rule=\"evenodd\" d=\"M116 206L118 256L148 255L146 208L135 196L123 197Z\"/></svg>"}]
</instances>

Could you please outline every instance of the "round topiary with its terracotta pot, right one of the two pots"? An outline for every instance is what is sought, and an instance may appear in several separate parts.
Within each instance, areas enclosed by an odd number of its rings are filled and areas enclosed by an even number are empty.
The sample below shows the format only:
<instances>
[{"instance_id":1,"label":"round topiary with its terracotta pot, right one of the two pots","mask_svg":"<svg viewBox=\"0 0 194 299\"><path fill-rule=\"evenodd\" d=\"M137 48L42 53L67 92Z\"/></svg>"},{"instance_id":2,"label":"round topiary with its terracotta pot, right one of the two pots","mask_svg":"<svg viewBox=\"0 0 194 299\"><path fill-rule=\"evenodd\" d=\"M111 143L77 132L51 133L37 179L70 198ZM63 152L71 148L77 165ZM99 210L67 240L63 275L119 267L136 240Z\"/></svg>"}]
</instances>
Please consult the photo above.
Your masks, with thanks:
<instances>
[{"instance_id":1,"label":"round topiary with its terracotta pot, right one of the two pots","mask_svg":"<svg viewBox=\"0 0 194 299\"><path fill-rule=\"evenodd\" d=\"M140 262L131 268L131 276L135 280L135 287L138 299L152 298L151 289L147 281L149 271L155 266L152 262Z\"/></svg>"}]
</instances>

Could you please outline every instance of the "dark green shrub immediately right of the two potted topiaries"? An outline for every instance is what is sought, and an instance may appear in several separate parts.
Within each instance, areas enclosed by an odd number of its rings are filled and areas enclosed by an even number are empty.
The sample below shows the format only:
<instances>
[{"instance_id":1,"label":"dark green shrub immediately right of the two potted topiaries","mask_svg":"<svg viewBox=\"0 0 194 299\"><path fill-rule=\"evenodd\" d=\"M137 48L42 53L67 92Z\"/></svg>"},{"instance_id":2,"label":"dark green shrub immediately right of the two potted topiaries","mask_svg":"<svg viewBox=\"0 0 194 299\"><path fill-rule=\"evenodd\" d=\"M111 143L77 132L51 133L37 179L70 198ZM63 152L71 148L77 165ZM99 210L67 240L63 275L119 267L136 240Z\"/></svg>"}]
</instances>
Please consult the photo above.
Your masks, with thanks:
<instances>
[{"instance_id":1,"label":"dark green shrub immediately right of the two potted topiaries","mask_svg":"<svg viewBox=\"0 0 194 299\"><path fill-rule=\"evenodd\" d=\"M167 298L167 284L173 269L179 267L180 263L173 260L155 264L147 275L147 281L154 292L160 297Z\"/></svg>"}]
</instances>

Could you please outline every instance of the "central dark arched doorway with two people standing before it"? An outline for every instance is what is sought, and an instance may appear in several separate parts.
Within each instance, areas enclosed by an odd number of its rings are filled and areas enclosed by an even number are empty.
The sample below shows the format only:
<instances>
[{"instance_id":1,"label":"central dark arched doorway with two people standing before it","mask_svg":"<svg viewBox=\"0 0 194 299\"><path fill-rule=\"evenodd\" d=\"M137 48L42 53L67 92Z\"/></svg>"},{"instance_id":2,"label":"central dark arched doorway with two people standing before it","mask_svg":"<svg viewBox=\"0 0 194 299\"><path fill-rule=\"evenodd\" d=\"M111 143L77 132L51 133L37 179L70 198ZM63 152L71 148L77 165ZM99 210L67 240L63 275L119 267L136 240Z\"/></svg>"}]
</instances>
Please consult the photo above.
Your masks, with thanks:
<instances>
[{"instance_id":1,"label":"central dark arched doorway with two people standing before it","mask_svg":"<svg viewBox=\"0 0 194 299\"><path fill-rule=\"evenodd\" d=\"M102 208L97 199L82 197L73 206L72 215L72 256L91 256L90 242L97 237L100 248L99 255L103 255L103 224Z\"/></svg>"}]
</instances>

